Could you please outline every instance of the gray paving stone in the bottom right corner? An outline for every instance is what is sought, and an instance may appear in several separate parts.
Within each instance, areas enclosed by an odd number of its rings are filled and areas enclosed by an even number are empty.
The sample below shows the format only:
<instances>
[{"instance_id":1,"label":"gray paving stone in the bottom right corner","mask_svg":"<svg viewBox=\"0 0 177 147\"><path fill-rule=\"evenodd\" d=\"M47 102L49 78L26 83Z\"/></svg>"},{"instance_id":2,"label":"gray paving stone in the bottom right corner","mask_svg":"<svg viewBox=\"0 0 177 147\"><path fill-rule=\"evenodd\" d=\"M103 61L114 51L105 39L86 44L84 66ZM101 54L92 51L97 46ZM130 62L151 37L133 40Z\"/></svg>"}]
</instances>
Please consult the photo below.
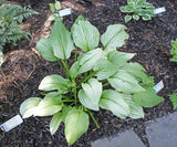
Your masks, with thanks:
<instances>
[{"instance_id":1,"label":"gray paving stone in the bottom right corner","mask_svg":"<svg viewBox=\"0 0 177 147\"><path fill-rule=\"evenodd\" d=\"M146 134L150 147L177 147L177 113L148 123Z\"/></svg>"}]
</instances>

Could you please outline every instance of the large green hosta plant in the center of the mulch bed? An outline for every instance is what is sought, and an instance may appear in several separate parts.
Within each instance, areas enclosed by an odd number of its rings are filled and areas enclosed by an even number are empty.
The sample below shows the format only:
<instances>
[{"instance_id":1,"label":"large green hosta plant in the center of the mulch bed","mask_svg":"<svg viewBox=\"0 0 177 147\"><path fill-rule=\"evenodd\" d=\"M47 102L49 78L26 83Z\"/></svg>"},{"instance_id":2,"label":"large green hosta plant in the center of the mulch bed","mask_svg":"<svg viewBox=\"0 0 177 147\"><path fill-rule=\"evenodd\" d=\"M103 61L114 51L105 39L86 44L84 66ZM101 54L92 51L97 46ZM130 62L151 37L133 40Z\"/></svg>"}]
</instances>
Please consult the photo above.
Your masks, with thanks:
<instances>
[{"instance_id":1,"label":"large green hosta plant in the center of the mulch bed","mask_svg":"<svg viewBox=\"0 0 177 147\"><path fill-rule=\"evenodd\" d=\"M153 107L164 98L156 95L153 77L145 69L128 62L134 53L116 50L128 39L122 24L108 25L104 34L79 17L71 33L56 20L49 39L41 39L37 48L48 61L58 61L64 76L45 76L39 90L49 92L43 98L31 97L20 106L23 118L51 116L50 132L53 135L60 124L65 125L69 146L88 128L90 116L98 127L93 112L111 111L119 118L143 118L143 107ZM98 44L102 44L102 48ZM75 49L74 63L67 60ZM77 54L77 50L82 53Z\"/></svg>"}]
</instances>

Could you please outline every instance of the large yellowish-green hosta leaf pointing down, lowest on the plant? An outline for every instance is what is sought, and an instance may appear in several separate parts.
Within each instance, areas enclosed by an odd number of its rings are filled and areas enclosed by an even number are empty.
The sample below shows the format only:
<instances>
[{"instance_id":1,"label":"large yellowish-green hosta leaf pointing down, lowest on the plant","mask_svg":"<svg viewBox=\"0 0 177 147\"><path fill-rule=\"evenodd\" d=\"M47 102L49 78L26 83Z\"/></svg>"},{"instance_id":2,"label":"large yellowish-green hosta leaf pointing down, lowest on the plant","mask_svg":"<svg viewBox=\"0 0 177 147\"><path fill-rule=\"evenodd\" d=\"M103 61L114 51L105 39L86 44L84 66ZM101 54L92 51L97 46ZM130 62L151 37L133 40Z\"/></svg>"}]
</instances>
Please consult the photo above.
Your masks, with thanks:
<instances>
[{"instance_id":1,"label":"large yellowish-green hosta leaf pointing down, lowest on the plant","mask_svg":"<svg viewBox=\"0 0 177 147\"><path fill-rule=\"evenodd\" d=\"M73 108L65 117L65 137L67 145L73 145L88 128L88 115L80 109Z\"/></svg>"}]
</instances>

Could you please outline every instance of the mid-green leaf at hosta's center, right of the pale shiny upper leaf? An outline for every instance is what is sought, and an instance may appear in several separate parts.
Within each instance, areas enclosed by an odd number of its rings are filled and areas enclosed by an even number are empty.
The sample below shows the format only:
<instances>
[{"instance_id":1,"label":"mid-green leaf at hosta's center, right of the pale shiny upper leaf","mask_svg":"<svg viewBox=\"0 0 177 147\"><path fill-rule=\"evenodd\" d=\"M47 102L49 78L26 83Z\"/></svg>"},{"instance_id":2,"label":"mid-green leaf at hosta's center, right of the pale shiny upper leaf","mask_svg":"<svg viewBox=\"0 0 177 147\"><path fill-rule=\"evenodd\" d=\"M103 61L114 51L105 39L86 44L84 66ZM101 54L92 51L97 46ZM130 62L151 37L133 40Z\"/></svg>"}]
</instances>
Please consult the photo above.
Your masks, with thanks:
<instances>
[{"instance_id":1,"label":"mid-green leaf at hosta's center, right of the pale shiny upper leaf","mask_svg":"<svg viewBox=\"0 0 177 147\"><path fill-rule=\"evenodd\" d=\"M95 64L93 70L97 72L95 74L95 76L97 76L97 80L106 80L115 74L118 71L118 67L106 59L101 59Z\"/></svg>"}]
</instances>

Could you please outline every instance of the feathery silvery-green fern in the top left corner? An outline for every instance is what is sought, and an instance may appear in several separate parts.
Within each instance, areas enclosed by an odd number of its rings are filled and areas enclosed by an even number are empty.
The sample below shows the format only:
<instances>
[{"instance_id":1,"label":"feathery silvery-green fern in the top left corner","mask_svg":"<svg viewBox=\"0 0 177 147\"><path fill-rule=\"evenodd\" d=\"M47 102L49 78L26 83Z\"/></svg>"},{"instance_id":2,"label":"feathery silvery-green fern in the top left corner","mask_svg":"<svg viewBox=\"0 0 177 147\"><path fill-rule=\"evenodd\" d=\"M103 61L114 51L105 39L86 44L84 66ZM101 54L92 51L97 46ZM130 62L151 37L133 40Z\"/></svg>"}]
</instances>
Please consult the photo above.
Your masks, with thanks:
<instances>
[{"instance_id":1,"label":"feathery silvery-green fern in the top left corner","mask_svg":"<svg viewBox=\"0 0 177 147\"><path fill-rule=\"evenodd\" d=\"M27 19L32 14L38 14L38 12L4 1L0 2L0 65L3 61L3 46L15 44L17 41L30 35L30 33L22 31L19 23L22 23L24 18Z\"/></svg>"}]
</instances>

